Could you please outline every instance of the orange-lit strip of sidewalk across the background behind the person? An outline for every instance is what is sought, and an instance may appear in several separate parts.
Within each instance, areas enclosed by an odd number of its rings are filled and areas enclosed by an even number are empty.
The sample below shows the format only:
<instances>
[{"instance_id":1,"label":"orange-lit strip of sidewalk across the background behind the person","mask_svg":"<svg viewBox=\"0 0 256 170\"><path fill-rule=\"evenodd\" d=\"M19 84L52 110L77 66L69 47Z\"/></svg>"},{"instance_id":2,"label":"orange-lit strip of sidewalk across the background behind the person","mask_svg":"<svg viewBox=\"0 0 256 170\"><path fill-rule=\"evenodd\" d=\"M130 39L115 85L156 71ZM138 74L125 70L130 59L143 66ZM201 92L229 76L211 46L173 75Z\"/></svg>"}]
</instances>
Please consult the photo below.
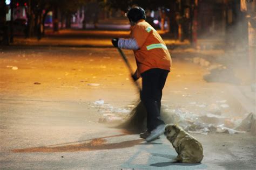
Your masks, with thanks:
<instances>
[{"instance_id":1,"label":"orange-lit strip of sidewalk across the background behind the person","mask_svg":"<svg viewBox=\"0 0 256 170\"><path fill-rule=\"evenodd\" d=\"M37 38L25 39L24 37L15 37L14 46L58 46L58 47L113 47L112 38L128 38L129 31L103 31L103 30L60 30L53 33L52 30L46 31L46 36L41 40ZM163 31L159 31L164 35ZM166 45L173 49L174 47L188 47L190 42L164 38Z\"/></svg>"}]
</instances>

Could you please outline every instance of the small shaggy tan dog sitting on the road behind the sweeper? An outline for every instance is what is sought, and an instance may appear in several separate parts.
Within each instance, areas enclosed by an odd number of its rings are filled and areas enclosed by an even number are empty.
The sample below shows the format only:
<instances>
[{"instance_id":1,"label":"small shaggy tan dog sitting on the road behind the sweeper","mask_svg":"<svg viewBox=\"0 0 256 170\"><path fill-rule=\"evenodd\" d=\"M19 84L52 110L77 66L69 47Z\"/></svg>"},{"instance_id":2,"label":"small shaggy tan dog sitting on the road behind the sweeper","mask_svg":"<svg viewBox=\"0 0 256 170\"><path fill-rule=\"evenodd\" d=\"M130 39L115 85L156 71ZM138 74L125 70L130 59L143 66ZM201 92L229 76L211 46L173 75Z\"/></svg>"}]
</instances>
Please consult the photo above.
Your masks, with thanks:
<instances>
[{"instance_id":1,"label":"small shaggy tan dog sitting on the road behind the sweeper","mask_svg":"<svg viewBox=\"0 0 256 170\"><path fill-rule=\"evenodd\" d=\"M179 126L166 125L164 134L178 153L177 162L196 164L203 160L203 146L201 143Z\"/></svg>"}]
</instances>

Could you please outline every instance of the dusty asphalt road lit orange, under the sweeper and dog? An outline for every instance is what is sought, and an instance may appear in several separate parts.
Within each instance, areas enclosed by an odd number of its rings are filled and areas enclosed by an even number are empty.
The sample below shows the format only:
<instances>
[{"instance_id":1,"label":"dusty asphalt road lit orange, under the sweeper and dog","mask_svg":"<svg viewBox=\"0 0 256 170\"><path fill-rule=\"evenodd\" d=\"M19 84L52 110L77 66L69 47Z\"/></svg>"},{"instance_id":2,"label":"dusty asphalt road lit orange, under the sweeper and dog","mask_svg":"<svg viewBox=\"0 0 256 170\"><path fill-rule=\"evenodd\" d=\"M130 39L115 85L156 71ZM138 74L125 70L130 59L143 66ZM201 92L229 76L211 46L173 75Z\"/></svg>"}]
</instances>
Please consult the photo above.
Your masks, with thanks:
<instances>
[{"instance_id":1,"label":"dusty asphalt road lit orange, under the sweeper and dog","mask_svg":"<svg viewBox=\"0 0 256 170\"><path fill-rule=\"evenodd\" d=\"M134 67L132 52L125 53ZM204 114L207 107L190 103L227 100L223 115L244 114L227 90L230 84L204 81L207 69L185 60L196 54L171 53L164 105ZM173 164L177 153L164 136L146 143L98 123L104 112L95 101L124 108L138 98L114 48L23 46L0 54L1 169L255 168L256 137L250 134L196 134L204 147L201 164Z\"/></svg>"}]
</instances>

